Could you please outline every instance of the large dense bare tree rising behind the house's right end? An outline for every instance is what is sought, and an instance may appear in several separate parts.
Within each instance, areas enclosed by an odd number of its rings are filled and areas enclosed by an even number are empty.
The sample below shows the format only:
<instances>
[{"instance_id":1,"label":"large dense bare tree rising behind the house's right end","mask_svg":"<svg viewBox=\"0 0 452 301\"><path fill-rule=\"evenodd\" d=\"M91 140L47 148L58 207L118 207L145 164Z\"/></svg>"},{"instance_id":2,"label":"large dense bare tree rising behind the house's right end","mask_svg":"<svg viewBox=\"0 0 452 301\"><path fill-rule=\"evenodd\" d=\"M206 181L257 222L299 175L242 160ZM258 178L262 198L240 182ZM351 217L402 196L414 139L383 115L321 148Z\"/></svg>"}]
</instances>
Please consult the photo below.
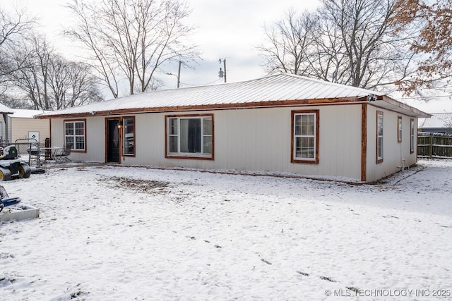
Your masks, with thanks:
<instances>
[{"instance_id":1,"label":"large dense bare tree rising behind the house's right end","mask_svg":"<svg viewBox=\"0 0 452 301\"><path fill-rule=\"evenodd\" d=\"M393 85L410 73L410 32L391 23L396 0L323 1L321 14L340 30L347 70L342 83L355 87ZM396 33L397 32L397 33Z\"/></svg>"}]
</instances>

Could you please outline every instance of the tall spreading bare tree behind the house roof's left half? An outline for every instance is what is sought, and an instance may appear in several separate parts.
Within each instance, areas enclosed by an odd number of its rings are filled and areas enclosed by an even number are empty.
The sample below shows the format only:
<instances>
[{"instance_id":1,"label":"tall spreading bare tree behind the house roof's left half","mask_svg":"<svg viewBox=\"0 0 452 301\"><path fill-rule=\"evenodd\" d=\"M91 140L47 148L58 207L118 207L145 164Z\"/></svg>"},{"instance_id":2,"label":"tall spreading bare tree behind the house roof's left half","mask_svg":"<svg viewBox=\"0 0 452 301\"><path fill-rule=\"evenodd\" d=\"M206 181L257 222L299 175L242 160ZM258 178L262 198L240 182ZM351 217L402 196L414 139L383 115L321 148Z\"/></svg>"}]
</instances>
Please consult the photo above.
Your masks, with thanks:
<instances>
[{"instance_id":1,"label":"tall spreading bare tree behind the house roof's left half","mask_svg":"<svg viewBox=\"0 0 452 301\"><path fill-rule=\"evenodd\" d=\"M183 23L190 13L183 1L73 0L69 8L77 25L66 34L90 51L91 64L113 97L119 96L120 78L127 79L129 94L144 92L162 65L198 56L196 46L186 43L192 28Z\"/></svg>"}]
</instances>

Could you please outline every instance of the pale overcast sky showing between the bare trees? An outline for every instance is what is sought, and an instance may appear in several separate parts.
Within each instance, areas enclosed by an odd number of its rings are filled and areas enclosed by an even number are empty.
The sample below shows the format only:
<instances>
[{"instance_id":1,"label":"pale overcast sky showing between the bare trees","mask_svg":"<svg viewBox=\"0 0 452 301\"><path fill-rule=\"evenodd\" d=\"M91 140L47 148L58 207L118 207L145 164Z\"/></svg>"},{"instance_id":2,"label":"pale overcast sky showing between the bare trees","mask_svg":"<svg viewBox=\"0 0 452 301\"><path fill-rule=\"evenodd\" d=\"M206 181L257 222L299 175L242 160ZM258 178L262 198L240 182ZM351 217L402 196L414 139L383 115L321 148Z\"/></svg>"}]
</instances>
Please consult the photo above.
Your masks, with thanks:
<instances>
[{"instance_id":1,"label":"pale overcast sky showing between the bare trees","mask_svg":"<svg viewBox=\"0 0 452 301\"><path fill-rule=\"evenodd\" d=\"M57 51L68 59L76 60L78 49L61 36L61 30L70 25L71 15L64 7L65 0L1 0L2 8L11 9L20 3L28 8L30 15L39 18L40 32L44 32ZM192 36L202 51L201 61L195 69L182 69L182 87L222 82L218 71L223 65L218 59L226 59L227 81L251 80L266 75L261 66L262 58L256 47L263 42L264 23L270 24L283 18L289 8L296 11L315 10L317 0L188 0L193 12L187 24L196 27ZM168 73L177 74L177 65L169 66ZM177 77L167 75L166 88L177 86ZM125 92L125 89L124 89ZM107 98L111 97L109 95ZM400 99L399 99L400 100ZM405 100L408 104L429 113L452 111L452 102L436 100L434 102Z\"/></svg>"}]
</instances>

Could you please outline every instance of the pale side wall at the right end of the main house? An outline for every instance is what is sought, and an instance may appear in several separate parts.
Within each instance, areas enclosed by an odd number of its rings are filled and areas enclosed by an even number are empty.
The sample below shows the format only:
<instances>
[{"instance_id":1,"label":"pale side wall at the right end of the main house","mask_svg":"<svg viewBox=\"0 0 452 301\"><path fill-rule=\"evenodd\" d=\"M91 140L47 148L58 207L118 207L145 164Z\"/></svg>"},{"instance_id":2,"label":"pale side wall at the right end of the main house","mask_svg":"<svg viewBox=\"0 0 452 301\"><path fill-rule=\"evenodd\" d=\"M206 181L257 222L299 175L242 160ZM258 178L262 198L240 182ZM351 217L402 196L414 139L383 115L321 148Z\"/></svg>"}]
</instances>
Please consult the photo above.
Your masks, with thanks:
<instances>
[{"instance_id":1,"label":"pale side wall at the right end of the main house","mask_svg":"<svg viewBox=\"0 0 452 301\"><path fill-rule=\"evenodd\" d=\"M410 166L417 161L417 139L414 152L410 152L410 120L417 118L367 106L367 182L374 182L400 171L401 166ZM376 163L376 111L383 112L383 161ZM398 142L398 116L402 117L402 142Z\"/></svg>"}]
</instances>

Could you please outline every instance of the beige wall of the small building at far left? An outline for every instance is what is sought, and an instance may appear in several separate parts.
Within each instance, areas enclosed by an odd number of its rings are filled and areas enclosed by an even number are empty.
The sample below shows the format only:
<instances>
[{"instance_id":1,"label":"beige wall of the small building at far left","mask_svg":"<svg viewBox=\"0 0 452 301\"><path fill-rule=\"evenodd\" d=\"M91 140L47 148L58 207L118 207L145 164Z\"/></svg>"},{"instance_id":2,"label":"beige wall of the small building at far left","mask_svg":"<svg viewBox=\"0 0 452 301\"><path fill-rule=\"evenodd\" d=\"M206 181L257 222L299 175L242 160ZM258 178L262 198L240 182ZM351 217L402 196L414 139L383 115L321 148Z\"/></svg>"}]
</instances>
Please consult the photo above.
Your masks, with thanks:
<instances>
[{"instance_id":1,"label":"beige wall of the small building at far left","mask_svg":"<svg viewBox=\"0 0 452 301\"><path fill-rule=\"evenodd\" d=\"M6 141L6 127L4 118L0 118L1 141ZM48 119L14 118L8 117L9 142L14 143L17 139L28 139L28 132L40 133L40 144L44 145L45 138L50 137L50 122Z\"/></svg>"}]
</instances>

